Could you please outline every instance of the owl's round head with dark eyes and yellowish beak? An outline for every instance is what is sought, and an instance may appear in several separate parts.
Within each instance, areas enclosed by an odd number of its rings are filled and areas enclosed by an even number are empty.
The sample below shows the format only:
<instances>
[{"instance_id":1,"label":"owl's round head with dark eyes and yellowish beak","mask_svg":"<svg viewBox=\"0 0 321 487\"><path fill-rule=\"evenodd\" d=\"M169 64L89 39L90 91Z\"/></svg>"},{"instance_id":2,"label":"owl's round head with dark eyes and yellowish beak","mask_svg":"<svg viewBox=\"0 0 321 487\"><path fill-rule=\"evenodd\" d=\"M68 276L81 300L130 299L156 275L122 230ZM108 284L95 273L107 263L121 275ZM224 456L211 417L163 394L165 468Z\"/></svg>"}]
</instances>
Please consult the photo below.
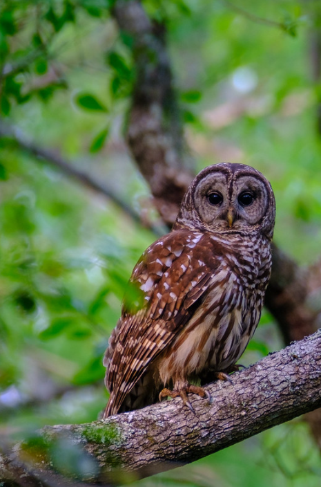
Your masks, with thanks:
<instances>
[{"instance_id":1,"label":"owl's round head with dark eyes and yellowish beak","mask_svg":"<svg viewBox=\"0 0 321 487\"><path fill-rule=\"evenodd\" d=\"M205 167L188 188L174 228L211 232L260 232L273 236L275 199L257 169L220 163Z\"/></svg>"}]
</instances>

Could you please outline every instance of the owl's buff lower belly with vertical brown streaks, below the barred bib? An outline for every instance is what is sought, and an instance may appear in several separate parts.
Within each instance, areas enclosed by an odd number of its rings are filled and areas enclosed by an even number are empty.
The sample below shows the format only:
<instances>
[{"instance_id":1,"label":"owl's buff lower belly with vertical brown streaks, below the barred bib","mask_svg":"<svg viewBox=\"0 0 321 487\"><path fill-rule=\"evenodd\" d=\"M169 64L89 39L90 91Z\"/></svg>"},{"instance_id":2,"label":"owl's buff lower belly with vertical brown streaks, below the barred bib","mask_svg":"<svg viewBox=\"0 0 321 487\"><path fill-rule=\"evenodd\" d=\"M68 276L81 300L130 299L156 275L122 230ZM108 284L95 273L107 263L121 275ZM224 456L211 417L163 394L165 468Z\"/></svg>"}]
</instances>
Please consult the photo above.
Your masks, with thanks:
<instances>
[{"instance_id":1,"label":"owl's buff lower belly with vertical brown streaks, below the barred bib","mask_svg":"<svg viewBox=\"0 0 321 487\"><path fill-rule=\"evenodd\" d=\"M260 291L244 286L231 270L218 284L221 277L215 275L204 301L166 353L175 370L188 375L233 365L260 319Z\"/></svg>"}]
</instances>

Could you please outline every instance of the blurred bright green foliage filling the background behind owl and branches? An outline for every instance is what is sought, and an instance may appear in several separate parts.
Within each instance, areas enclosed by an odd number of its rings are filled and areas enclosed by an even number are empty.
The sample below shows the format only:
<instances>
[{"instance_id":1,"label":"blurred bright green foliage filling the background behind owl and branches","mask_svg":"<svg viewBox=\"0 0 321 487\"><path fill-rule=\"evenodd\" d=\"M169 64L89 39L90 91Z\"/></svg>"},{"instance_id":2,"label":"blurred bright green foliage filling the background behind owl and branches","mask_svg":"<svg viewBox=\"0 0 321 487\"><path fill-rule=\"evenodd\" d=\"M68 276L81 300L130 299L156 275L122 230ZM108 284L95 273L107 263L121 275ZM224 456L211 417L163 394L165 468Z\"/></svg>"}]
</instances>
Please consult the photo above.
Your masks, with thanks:
<instances>
[{"instance_id":1,"label":"blurred bright green foliage filling the background behind owl and branches","mask_svg":"<svg viewBox=\"0 0 321 487\"><path fill-rule=\"evenodd\" d=\"M153 220L123 140L135 66L113 3L1 0L0 122L111 181ZM277 199L275 240L301 264L313 262L321 246L321 91L309 43L321 28L320 2L143 4L168 29L197 168L229 160L260 169ZM130 272L155 236L9 138L0 139L0 188L0 435L32 438L44 424L93 421L104 407L101 358ZM280 347L264 313L242 362ZM81 453L61 448L77 457L66 468L77 468ZM320 472L307 427L296 421L139 485L314 487Z\"/></svg>"}]
</instances>

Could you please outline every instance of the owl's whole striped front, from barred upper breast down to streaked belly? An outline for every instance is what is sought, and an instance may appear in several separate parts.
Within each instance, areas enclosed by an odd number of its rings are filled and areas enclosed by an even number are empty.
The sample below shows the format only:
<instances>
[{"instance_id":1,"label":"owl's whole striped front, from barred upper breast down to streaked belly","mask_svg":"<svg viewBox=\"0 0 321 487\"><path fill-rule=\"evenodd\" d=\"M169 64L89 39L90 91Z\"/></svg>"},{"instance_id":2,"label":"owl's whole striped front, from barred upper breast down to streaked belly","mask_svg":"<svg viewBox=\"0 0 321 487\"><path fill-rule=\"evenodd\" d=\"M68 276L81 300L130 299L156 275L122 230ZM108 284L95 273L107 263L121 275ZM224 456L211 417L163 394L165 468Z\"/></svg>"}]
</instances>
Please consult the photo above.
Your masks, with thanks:
<instances>
[{"instance_id":1,"label":"owl's whole striped front, from barred upper breast down to streaked belly","mask_svg":"<svg viewBox=\"0 0 321 487\"><path fill-rule=\"evenodd\" d=\"M213 240L226 246L222 237ZM157 361L162 383L193 379L206 369L224 371L240 358L260 320L271 268L269 248L259 257L257 246L249 241L242 258L233 248L220 257L193 318Z\"/></svg>"}]
</instances>

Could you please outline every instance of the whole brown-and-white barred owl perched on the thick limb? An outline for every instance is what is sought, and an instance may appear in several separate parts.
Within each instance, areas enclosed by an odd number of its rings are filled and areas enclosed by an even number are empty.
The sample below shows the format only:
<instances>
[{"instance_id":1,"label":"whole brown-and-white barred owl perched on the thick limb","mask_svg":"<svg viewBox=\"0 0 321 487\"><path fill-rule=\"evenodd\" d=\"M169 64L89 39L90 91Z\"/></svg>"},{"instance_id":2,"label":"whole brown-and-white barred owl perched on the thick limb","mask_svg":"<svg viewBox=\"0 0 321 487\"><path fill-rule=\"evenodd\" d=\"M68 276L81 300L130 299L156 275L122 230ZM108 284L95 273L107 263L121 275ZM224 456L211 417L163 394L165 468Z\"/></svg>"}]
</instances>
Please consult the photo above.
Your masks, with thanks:
<instances>
[{"instance_id":1,"label":"whole brown-and-white barred owl perched on the thick limb","mask_svg":"<svg viewBox=\"0 0 321 487\"><path fill-rule=\"evenodd\" d=\"M228 378L260 320L271 274L275 200L253 167L221 163L196 176L168 235L130 277L142 295L124 299L104 357L104 418L188 394Z\"/></svg>"}]
</instances>

